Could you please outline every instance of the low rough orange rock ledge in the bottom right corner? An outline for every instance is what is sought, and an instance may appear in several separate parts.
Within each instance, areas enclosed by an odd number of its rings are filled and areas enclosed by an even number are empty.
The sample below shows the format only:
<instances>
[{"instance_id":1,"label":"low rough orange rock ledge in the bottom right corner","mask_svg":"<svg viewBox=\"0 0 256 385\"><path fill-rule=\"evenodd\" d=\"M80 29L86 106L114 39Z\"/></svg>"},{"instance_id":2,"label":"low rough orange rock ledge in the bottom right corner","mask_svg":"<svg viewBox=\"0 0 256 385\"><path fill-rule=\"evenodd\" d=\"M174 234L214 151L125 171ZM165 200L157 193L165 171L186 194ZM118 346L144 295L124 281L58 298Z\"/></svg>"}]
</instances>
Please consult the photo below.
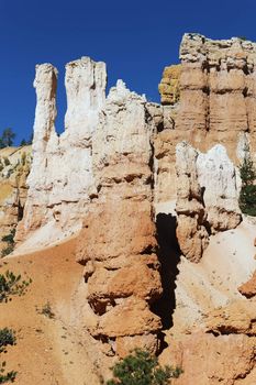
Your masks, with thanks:
<instances>
[{"instance_id":1,"label":"low rough orange rock ledge in the bottom right corner","mask_svg":"<svg viewBox=\"0 0 256 385\"><path fill-rule=\"evenodd\" d=\"M220 336L202 332L172 339L160 358L163 364L183 367L183 374L174 380L176 385L235 385L246 383L255 366L256 338L247 336Z\"/></svg>"}]
</instances>

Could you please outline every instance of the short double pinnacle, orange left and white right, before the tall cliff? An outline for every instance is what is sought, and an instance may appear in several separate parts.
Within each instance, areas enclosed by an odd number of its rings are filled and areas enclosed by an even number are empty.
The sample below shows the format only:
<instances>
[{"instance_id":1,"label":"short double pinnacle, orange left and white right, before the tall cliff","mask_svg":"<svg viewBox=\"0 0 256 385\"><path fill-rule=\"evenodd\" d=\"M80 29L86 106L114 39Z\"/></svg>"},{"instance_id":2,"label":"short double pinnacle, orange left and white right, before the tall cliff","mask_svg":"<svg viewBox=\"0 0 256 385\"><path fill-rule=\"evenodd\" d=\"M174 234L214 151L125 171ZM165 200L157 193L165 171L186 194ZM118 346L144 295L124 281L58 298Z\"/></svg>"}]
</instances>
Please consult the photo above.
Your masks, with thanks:
<instances>
[{"instance_id":1,"label":"short double pinnacle, orange left and white right, before the tall cliff","mask_svg":"<svg viewBox=\"0 0 256 385\"><path fill-rule=\"evenodd\" d=\"M211 233L242 220L236 172L222 145L202 154L186 142L177 145L176 169L177 238L183 255L198 262Z\"/></svg>"}]
</instances>

